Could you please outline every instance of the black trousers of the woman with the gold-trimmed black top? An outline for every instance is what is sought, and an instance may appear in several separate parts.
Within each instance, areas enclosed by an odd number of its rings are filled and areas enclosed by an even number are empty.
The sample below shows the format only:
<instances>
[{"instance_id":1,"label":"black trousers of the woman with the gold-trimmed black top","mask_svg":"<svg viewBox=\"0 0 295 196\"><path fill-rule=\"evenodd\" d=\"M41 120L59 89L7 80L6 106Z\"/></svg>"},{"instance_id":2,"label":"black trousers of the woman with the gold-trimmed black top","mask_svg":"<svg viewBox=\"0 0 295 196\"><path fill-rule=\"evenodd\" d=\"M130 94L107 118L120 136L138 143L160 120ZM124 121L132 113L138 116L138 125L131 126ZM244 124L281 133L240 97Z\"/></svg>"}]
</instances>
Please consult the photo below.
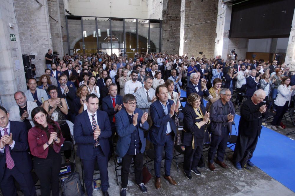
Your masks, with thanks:
<instances>
[{"instance_id":1,"label":"black trousers of the woman with the gold-trimmed black top","mask_svg":"<svg viewBox=\"0 0 295 196\"><path fill-rule=\"evenodd\" d=\"M185 146L183 157L183 170L186 174L190 174L192 169L196 169L201 158L203 145Z\"/></svg>"}]
</instances>

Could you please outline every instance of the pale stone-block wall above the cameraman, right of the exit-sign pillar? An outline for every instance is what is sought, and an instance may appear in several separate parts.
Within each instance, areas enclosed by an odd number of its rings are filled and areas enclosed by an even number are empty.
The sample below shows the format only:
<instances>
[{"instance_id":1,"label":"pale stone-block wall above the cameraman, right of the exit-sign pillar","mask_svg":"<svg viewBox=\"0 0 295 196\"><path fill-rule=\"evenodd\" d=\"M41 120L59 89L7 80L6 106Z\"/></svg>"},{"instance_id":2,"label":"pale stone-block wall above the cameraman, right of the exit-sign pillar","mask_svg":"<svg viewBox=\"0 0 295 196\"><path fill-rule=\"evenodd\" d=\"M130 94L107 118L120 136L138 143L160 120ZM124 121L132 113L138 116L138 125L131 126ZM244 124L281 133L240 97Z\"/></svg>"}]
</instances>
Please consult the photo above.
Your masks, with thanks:
<instances>
[{"instance_id":1,"label":"pale stone-block wall above the cameraman, right of the exit-sign pillar","mask_svg":"<svg viewBox=\"0 0 295 196\"><path fill-rule=\"evenodd\" d=\"M14 0L22 54L35 55L36 74L44 73L45 54L52 49L47 0ZM27 8L27 9L24 9ZM29 9L28 9L29 8Z\"/></svg>"}]
</instances>

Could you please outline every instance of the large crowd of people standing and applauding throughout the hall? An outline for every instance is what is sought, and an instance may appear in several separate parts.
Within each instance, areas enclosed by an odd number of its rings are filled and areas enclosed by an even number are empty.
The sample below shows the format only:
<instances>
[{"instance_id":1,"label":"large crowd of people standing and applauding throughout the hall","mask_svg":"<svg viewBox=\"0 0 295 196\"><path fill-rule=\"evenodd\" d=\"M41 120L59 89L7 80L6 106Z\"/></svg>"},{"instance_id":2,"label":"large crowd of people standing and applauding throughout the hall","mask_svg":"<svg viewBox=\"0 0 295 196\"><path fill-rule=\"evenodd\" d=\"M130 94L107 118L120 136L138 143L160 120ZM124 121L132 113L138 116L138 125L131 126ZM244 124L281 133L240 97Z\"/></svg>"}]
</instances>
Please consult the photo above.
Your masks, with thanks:
<instances>
[{"instance_id":1,"label":"large crowd of people standing and applauding throughout the hall","mask_svg":"<svg viewBox=\"0 0 295 196\"><path fill-rule=\"evenodd\" d=\"M25 195L36 195L30 171L40 179L41 195L59 195L58 176L61 145L73 140L84 170L87 195L92 195L94 164L99 164L101 190L108 194L108 161L113 150L122 158L121 191L126 195L133 158L135 182L142 192L143 153L154 149L155 187L161 187L162 152L165 151L164 178L170 174L173 148L184 146L183 170L188 180L202 161L206 133L210 134L208 167L223 168L227 141L232 134L235 106L240 109L239 134L232 157L241 170L253 156L263 118L275 112L271 128L284 129L281 120L295 94L295 76L282 63L231 58L207 59L166 53L135 53L132 58L96 54L66 55L54 59L49 49L47 68L40 78L28 78L26 92L14 94L16 105L0 107L0 157L5 169L2 194L15 195L12 179ZM54 62L57 60L57 62ZM181 103L181 90L186 104ZM234 92L239 93L232 99ZM204 105L203 98L207 99ZM246 98L247 100L245 100ZM181 110L180 110L181 108ZM177 127L183 126L182 134ZM73 127L73 133L71 128ZM207 130L207 132L206 132ZM116 148L113 136L118 135ZM181 137L181 138L179 138ZM28 150L33 157L29 156ZM71 150L64 152L70 162ZM204 161L204 160L203 160ZM13 178L12 178L13 177Z\"/></svg>"}]
</instances>

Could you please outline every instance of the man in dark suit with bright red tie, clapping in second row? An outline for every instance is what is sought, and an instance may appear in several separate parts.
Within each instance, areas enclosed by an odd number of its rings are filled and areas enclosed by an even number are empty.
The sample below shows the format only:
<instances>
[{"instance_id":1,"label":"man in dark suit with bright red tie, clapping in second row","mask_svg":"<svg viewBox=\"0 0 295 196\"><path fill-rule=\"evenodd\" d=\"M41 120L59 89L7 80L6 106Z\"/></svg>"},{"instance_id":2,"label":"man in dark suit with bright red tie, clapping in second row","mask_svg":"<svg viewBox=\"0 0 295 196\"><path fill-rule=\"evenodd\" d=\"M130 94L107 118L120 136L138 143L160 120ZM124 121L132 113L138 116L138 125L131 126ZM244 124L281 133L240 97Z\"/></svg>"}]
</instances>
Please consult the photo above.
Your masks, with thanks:
<instances>
[{"instance_id":1,"label":"man in dark suit with bright red tie, clapping in second row","mask_svg":"<svg viewBox=\"0 0 295 196\"><path fill-rule=\"evenodd\" d=\"M123 105L123 97L118 95L117 92L118 92L117 84L112 83L109 85L110 94L102 99L102 110L108 113L109 115L109 121L111 123L111 128L112 128L112 136L114 136L116 132L115 114L122 109L122 105ZM109 153L109 158L110 158L110 156L113 153L112 137L109 137L109 144L110 144L110 153Z\"/></svg>"}]
</instances>

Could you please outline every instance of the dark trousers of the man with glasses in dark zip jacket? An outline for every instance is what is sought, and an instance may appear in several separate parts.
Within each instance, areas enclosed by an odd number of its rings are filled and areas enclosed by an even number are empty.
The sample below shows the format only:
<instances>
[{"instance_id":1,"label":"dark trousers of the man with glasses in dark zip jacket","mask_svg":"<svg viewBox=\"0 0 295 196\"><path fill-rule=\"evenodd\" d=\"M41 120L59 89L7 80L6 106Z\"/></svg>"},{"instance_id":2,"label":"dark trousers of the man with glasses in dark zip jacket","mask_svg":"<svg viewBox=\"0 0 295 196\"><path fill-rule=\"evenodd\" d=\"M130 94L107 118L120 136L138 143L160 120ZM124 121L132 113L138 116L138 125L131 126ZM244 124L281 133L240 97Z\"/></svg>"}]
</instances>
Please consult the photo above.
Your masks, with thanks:
<instances>
[{"instance_id":1,"label":"dark trousers of the man with glasses in dark zip jacket","mask_svg":"<svg viewBox=\"0 0 295 196\"><path fill-rule=\"evenodd\" d=\"M208 162L213 163L214 156L217 150L217 157L216 160L223 161L225 149L227 146L227 140L228 140L228 133L227 127L221 128L221 136L211 134L211 142L210 142L210 148L208 151Z\"/></svg>"}]
</instances>

